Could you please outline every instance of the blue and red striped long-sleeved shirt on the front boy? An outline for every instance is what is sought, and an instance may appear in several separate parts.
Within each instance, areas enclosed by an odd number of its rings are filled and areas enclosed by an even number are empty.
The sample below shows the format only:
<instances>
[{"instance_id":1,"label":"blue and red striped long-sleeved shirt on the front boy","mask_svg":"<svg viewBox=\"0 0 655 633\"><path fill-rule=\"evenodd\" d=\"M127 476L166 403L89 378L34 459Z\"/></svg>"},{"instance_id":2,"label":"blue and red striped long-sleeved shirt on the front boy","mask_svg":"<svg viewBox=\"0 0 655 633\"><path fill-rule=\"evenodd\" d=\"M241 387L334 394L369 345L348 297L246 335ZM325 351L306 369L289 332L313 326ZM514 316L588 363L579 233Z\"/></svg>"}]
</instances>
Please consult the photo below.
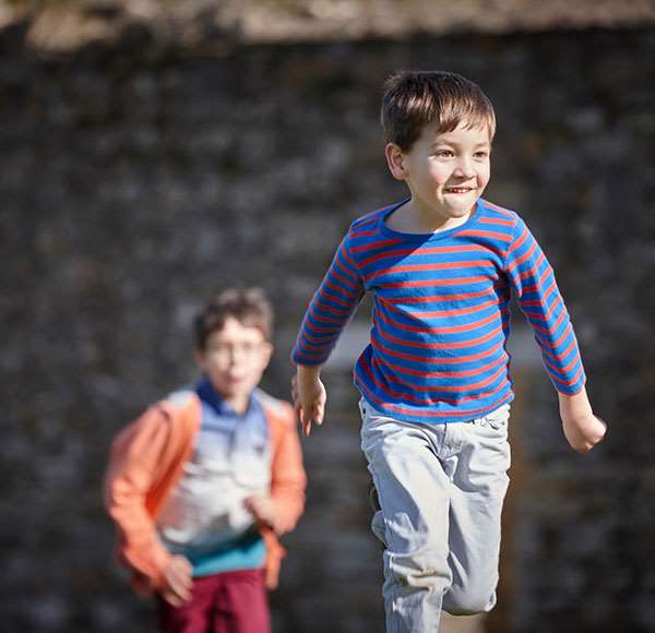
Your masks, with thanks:
<instances>
[{"instance_id":1,"label":"blue and red striped long-sleeved shirt on the front boy","mask_svg":"<svg viewBox=\"0 0 655 633\"><path fill-rule=\"evenodd\" d=\"M401 420L480 417L514 397L507 350L513 290L556 390L577 393L585 374L569 313L519 215L480 199L463 225L415 235L385 225L401 204L353 223L305 314L294 361L324 363L370 291L370 343L355 365L364 397Z\"/></svg>"}]
</instances>

